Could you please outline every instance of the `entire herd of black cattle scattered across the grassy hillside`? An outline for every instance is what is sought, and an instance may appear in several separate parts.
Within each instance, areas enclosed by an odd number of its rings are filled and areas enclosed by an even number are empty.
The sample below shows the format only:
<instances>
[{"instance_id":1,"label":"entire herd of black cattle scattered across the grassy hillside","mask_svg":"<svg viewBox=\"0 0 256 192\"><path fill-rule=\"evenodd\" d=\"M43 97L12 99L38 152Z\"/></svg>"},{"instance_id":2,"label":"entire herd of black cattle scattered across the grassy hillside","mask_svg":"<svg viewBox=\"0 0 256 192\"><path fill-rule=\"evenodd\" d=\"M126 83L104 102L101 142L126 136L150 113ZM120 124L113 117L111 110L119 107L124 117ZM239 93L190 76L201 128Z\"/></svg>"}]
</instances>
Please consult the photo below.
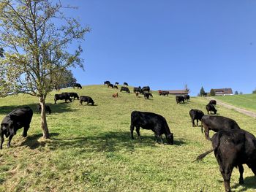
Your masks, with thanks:
<instances>
[{"instance_id":1,"label":"entire herd of black cattle scattered across the grassy hillside","mask_svg":"<svg viewBox=\"0 0 256 192\"><path fill-rule=\"evenodd\" d=\"M110 82L106 82L109 86ZM118 82L116 82L118 85ZM128 85L126 83L126 85ZM78 88L82 88L78 86ZM112 87L112 86L110 86ZM127 87L121 87L127 88ZM128 89L129 90L129 89ZM144 96L149 92L149 87L144 88L134 88L134 93L143 93ZM166 95L164 91L159 91L159 95ZM151 94L151 93L150 93ZM167 94L168 95L168 94ZM117 94L118 96L118 94ZM184 102L186 96L176 96L176 102ZM78 96L77 93L61 93L54 96L54 101L57 100L69 100L79 99L80 104L87 102L87 104L94 105L94 101L89 96ZM189 101L189 97L186 98ZM215 105L217 102L215 100L209 101L206 104L207 112L214 112L214 115L204 115L201 110L190 110L189 115L192 120L192 126L198 126L198 120L201 121L201 130L204 133L206 139L211 140L213 149L203 153L197 157L197 160L203 159L206 155L214 151L214 155L217 158L219 164L219 170L222 174L225 191L230 191L230 177L233 171L233 168L236 166L240 172L239 184L244 183L243 178L243 164L247 164L252 172L256 175L256 139L254 135L250 134L248 131L244 131L238 126L235 120L230 118L225 118L219 115L216 115L217 110ZM46 111L50 114L51 110L49 106L46 106ZM37 106L37 112L41 110L41 106ZM27 136L27 131L29 130L29 125L31 123L31 118L33 116L33 111L30 107L23 107L17 110L13 110L7 114L1 122L1 143L0 149L4 142L4 136L9 137L7 147L10 147L10 142L12 137L16 134L17 130L23 128L23 137ZM195 125L195 120L197 120L197 125ZM130 133L131 138L134 139L133 131L136 128L136 132L140 139L140 128L152 130L156 137L156 142L163 142L162 134L165 134L167 144L173 145L173 133L170 132L170 128L167 125L167 121L162 115L155 114L153 112L140 112L133 111L131 113L131 124L130 124ZM209 131L217 132L210 139Z\"/></svg>"}]
</instances>

